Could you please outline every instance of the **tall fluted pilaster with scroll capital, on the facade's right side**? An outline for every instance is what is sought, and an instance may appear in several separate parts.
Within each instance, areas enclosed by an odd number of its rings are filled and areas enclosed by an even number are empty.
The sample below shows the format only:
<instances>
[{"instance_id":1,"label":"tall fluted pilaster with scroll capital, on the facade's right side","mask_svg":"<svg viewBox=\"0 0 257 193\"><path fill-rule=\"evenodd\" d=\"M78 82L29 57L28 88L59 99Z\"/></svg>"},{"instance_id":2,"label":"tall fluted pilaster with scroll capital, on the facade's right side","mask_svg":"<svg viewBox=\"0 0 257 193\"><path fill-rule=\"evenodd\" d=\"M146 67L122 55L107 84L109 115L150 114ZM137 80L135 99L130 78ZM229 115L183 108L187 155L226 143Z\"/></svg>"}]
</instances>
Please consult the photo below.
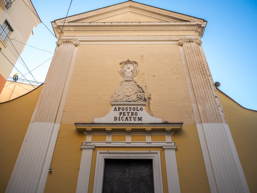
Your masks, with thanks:
<instances>
[{"instance_id":1,"label":"tall fluted pilaster with scroll capital, on the facade's right side","mask_svg":"<svg viewBox=\"0 0 257 193\"><path fill-rule=\"evenodd\" d=\"M188 89L191 90L191 98L194 98L191 99L192 104L196 101L193 110L205 165L208 167L210 162L212 167L207 168L211 190L224 193L249 192L201 43L200 40L178 41L183 46L181 55L185 57L185 73L190 76ZM215 179L212 179L212 173Z\"/></svg>"}]
</instances>

